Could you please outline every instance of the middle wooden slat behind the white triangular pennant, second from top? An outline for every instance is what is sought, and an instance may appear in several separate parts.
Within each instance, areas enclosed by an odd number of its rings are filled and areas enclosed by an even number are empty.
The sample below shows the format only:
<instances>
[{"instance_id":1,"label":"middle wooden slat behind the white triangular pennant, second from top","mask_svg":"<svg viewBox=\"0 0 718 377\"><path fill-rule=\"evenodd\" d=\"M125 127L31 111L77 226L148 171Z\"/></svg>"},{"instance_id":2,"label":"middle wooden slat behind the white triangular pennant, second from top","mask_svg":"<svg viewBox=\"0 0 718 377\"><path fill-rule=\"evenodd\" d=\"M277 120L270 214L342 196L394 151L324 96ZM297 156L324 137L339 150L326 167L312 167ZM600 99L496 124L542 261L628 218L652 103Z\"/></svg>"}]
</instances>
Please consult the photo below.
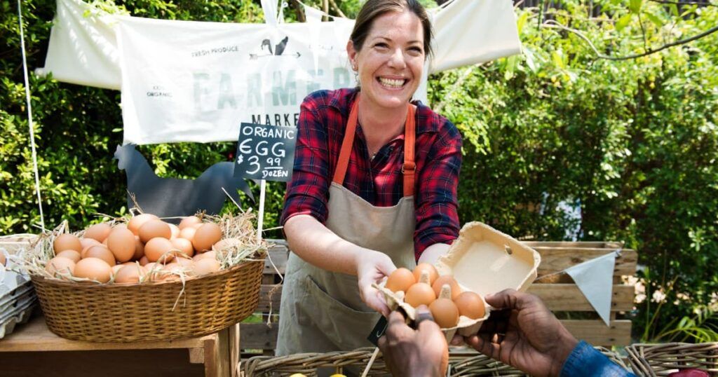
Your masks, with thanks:
<instances>
[{"instance_id":1,"label":"middle wooden slat behind the white triangular pennant, second from top","mask_svg":"<svg viewBox=\"0 0 718 377\"><path fill-rule=\"evenodd\" d=\"M528 288L528 293L536 294L554 312L595 311L576 284L533 284ZM611 311L626 312L633 309L633 293L633 286L614 285Z\"/></svg>"}]
</instances>

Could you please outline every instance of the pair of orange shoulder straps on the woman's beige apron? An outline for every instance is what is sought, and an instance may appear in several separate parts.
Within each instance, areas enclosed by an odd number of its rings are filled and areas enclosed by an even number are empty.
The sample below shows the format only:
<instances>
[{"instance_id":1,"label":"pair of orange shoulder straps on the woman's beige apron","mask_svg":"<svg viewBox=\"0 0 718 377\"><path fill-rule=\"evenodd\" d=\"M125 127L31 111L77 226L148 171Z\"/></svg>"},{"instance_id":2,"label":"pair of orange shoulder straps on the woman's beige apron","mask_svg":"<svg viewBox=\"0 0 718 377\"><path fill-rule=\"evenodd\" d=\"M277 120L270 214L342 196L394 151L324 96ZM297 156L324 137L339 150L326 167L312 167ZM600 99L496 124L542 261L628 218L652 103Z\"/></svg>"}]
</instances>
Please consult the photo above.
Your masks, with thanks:
<instances>
[{"instance_id":1,"label":"pair of orange shoulder straps on the woman's beige apron","mask_svg":"<svg viewBox=\"0 0 718 377\"><path fill-rule=\"evenodd\" d=\"M359 119L359 96L352 104L349 113L347 129L342 140L342 149L339 151L339 159L337 160L337 168L334 171L332 182L337 185L344 185L344 178L347 174L349 166L349 155L352 152L354 144L354 135L357 129ZM409 105L409 111L406 112L406 122L404 125L404 164L401 166L401 173L404 174L404 196L414 195L414 172L416 171L416 162L414 162L414 143L416 141L416 106Z\"/></svg>"}]
</instances>

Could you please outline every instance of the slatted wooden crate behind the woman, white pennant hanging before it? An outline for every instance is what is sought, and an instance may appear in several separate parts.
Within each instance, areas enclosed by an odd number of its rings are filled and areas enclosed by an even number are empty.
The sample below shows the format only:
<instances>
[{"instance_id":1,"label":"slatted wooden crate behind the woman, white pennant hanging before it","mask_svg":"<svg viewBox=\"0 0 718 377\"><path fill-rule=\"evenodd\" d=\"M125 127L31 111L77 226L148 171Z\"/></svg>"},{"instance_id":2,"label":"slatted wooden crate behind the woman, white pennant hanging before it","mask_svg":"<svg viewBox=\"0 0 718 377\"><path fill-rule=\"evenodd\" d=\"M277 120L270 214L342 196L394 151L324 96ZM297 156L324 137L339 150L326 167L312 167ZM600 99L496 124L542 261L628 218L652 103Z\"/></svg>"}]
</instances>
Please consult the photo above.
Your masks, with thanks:
<instances>
[{"instance_id":1,"label":"slatted wooden crate behind the woman, white pennant hanging before it","mask_svg":"<svg viewBox=\"0 0 718 377\"><path fill-rule=\"evenodd\" d=\"M269 250L269 258L274 266L266 262L264 279L259 297L257 312L261 313L264 322L242 323L240 344L243 358L253 355L274 354L279 330L279 302L281 287L276 271L284 274L289 249L283 240L271 240L276 246ZM525 242L528 246L541 253L541 266L538 277L548 276L570 266L602 256L622 248L623 244L615 242ZM582 319L564 319L561 322L574 336L586 340L592 345L628 345L630 344L630 320L620 319L621 312L633 309L633 286L624 284L621 276L635 274L638 255L634 250L623 249L616 259L614 269L613 300L610 326L600 320L591 304L567 274L549 276L548 279L537 281L528 292L536 294L546 302L546 306L561 317L582 317ZM275 269L276 266L276 269ZM273 313L272 325L266 325L269 312ZM589 317L584 319L584 317Z\"/></svg>"}]
</instances>

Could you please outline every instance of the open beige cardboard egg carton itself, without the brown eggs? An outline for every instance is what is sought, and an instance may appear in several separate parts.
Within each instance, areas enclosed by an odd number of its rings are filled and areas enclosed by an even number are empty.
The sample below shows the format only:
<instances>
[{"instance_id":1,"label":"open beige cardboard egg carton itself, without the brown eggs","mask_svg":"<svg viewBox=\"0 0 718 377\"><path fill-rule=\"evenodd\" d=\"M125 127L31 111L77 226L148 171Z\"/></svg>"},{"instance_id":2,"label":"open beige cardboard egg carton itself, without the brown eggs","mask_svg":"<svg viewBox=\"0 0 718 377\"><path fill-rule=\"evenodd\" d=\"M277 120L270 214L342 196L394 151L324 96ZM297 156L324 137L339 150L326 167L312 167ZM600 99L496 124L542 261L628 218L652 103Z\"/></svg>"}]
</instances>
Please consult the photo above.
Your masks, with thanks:
<instances>
[{"instance_id":1,"label":"open beige cardboard egg carton itself, without the brown eggs","mask_svg":"<svg viewBox=\"0 0 718 377\"><path fill-rule=\"evenodd\" d=\"M460 316L456 326L442 328L447 340L457 332L462 336L475 334L493 309L483 297L504 289L525 292L536 279L540 263L541 256L535 250L489 225L480 222L464 225L459 238L434 266L439 276L453 275L462 292L479 294L485 314L477 319ZM388 307L392 310L401 307L409 319L416 320L416 309L404 302L405 292L392 292L385 285L386 280L375 287L383 292ZM446 286L441 296L450 297Z\"/></svg>"}]
</instances>

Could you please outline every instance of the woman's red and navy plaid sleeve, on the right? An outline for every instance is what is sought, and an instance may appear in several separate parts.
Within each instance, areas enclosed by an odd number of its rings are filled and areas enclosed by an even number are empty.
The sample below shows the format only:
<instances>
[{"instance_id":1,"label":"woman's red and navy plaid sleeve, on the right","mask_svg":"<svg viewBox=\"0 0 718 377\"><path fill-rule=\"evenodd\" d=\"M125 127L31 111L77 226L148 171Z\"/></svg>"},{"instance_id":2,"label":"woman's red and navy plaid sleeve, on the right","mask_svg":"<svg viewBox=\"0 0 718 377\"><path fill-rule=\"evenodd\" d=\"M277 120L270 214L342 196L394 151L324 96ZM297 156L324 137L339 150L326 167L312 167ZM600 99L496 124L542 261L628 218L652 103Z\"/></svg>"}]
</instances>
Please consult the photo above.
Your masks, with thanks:
<instances>
[{"instance_id":1,"label":"woman's red and navy plaid sleeve, on the right","mask_svg":"<svg viewBox=\"0 0 718 377\"><path fill-rule=\"evenodd\" d=\"M443 118L442 118L443 119ZM461 134L444 119L424 167L416 177L414 256L434 243L452 243L459 236L457 186L461 169Z\"/></svg>"}]
</instances>

